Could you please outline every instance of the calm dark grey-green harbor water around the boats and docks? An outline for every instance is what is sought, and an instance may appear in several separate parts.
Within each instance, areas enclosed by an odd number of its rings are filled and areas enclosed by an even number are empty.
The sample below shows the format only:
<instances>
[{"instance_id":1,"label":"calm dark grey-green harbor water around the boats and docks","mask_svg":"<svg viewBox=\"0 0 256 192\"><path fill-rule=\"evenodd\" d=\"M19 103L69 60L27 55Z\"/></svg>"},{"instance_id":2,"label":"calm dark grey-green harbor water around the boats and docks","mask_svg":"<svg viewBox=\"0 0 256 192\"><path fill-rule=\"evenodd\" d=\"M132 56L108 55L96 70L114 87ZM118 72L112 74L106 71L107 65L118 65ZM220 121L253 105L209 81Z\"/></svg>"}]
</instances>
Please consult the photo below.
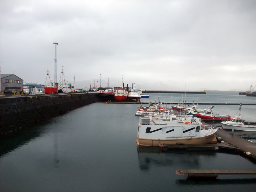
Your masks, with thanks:
<instances>
[{"instance_id":1,"label":"calm dark grey-green harbor water around the boats and docks","mask_svg":"<svg viewBox=\"0 0 256 192\"><path fill-rule=\"evenodd\" d=\"M238 92L156 94L143 102L255 103ZM181 101L182 102L182 101ZM256 176L219 175L191 180L177 169L256 170L256 164L231 152L168 151L137 147L140 104L94 103L40 122L0 141L0 191L255 191ZM205 109L209 106L199 105ZM239 105L215 105L218 114ZM254 120L256 105L242 105Z\"/></svg>"}]
</instances>

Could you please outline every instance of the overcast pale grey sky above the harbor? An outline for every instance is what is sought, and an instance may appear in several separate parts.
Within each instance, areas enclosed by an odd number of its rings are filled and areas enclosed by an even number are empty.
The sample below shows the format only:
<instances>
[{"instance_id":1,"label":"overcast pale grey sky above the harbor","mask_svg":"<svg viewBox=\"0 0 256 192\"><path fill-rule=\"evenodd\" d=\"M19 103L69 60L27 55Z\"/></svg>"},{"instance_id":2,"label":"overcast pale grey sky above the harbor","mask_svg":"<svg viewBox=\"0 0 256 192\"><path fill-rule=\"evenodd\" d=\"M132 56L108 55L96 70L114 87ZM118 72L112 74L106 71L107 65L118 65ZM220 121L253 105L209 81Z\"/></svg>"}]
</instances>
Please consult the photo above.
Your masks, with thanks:
<instances>
[{"instance_id":1,"label":"overcast pale grey sky above the harbor","mask_svg":"<svg viewBox=\"0 0 256 192\"><path fill-rule=\"evenodd\" d=\"M64 66L75 87L256 85L255 0L1 0L0 27L1 73L26 83L54 79L57 42L57 79Z\"/></svg>"}]
</instances>

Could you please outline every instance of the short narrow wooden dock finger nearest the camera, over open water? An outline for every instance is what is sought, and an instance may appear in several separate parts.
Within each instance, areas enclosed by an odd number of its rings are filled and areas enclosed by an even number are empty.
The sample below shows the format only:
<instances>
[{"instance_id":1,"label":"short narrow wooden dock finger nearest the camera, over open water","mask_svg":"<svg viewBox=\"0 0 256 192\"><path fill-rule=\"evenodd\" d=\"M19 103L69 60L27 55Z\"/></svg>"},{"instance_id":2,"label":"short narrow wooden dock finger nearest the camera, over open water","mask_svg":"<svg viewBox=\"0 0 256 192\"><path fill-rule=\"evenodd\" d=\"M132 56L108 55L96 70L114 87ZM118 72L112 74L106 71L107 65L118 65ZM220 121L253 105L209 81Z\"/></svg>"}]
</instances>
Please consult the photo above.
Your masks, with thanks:
<instances>
[{"instance_id":1,"label":"short narrow wooden dock finger nearest the camera, over open water","mask_svg":"<svg viewBox=\"0 0 256 192\"><path fill-rule=\"evenodd\" d=\"M188 177L218 177L218 175L256 175L256 170L177 169L176 174L188 175Z\"/></svg>"}]
</instances>

